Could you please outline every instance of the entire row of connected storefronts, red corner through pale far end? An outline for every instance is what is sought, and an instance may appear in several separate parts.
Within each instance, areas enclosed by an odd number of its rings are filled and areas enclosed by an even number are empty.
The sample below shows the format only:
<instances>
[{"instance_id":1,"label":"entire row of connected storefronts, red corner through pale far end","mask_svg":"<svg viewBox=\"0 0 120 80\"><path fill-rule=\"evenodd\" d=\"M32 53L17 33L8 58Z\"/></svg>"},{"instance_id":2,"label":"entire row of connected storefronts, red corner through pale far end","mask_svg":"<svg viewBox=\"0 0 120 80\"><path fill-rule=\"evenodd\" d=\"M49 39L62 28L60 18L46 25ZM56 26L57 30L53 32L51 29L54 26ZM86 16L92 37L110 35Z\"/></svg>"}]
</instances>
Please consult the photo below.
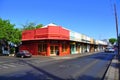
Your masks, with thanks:
<instances>
[{"instance_id":1,"label":"entire row of connected storefronts, red corner through pale far end","mask_svg":"<svg viewBox=\"0 0 120 80\"><path fill-rule=\"evenodd\" d=\"M33 55L65 56L101 51L105 46L103 41L49 24L43 28L23 31L20 50L28 50Z\"/></svg>"}]
</instances>

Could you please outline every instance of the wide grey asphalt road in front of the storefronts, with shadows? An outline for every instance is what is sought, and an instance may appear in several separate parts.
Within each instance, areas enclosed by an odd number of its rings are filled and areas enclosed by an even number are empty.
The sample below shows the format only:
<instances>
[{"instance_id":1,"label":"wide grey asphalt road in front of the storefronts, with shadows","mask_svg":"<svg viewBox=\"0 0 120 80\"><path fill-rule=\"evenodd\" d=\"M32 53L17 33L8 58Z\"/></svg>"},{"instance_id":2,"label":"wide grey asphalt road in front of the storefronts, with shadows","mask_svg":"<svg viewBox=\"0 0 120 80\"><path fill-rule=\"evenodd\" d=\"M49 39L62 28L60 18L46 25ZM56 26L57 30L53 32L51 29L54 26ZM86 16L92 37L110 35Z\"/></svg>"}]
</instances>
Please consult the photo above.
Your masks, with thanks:
<instances>
[{"instance_id":1,"label":"wide grey asphalt road in front of the storefronts, with shadows","mask_svg":"<svg viewBox=\"0 0 120 80\"><path fill-rule=\"evenodd\" d=\"M114 55L0 57L0 80L101 80Z\"/></svg>"}]
</instances>

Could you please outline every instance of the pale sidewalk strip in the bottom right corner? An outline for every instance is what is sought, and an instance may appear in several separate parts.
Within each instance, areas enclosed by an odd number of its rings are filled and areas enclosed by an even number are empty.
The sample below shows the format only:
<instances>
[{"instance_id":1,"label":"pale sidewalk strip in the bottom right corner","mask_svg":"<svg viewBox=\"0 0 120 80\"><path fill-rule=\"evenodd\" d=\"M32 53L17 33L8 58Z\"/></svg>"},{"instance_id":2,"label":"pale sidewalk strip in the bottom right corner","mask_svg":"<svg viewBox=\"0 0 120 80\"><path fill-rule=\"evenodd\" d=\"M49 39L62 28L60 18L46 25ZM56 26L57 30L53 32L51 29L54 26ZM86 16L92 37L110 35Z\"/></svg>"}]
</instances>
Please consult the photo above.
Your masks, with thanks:
<instances>
[{"instance_id":1,"label":"pale sidewalk strip in the bottom right corner","mask_svg":"<svg viewBox=\"0 0 120 80\"><path fill-rule=\"evenodd\" d=\"M104 80L120 80L119 79L120 63L119 63L118 59L120 59L120 56L115 55L110 63L110 66L109 66L107 72L106 72Z\"/></svg>"}]
</instances>

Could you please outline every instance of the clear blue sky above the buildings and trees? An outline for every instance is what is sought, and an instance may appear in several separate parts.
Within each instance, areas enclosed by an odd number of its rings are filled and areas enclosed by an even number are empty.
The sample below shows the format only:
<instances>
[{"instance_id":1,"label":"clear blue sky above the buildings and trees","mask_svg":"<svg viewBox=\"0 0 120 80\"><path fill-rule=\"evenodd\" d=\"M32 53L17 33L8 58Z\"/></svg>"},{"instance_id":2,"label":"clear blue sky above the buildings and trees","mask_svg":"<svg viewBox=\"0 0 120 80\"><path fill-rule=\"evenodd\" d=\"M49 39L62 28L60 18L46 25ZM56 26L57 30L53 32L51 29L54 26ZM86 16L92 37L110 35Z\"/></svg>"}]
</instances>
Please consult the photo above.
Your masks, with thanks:
<instances>
[{"instance_id":1,"label":"clear blue sky above the buildings and trees","mask_svg":"<svg viewBox=\"0 0 120 80\"><path fill-rule=\"evenodd\" d=\"M120 0L0 0L0 18L10 20L16 28L29 22L55 23L102 40L116 38L113 3L119 28Z\"/></svg>"}]
</instances>

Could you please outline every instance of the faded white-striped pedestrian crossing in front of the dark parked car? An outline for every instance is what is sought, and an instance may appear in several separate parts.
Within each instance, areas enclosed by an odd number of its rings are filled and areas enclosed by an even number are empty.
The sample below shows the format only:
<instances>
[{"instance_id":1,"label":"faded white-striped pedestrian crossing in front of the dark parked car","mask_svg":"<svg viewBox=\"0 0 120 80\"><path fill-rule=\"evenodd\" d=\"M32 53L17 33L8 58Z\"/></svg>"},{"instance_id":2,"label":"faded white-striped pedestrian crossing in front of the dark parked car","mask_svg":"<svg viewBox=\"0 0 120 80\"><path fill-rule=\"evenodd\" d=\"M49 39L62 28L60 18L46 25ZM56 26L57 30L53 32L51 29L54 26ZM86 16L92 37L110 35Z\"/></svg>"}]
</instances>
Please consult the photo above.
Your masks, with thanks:
<instances>
[{"instance_id":1,"label":"faded white-striped pedestrian crossing in front of the dark parked car","mask_svg":"<svg viewBox=\"0 0 120 80\"><path fill-rule=\"evenodd\" d=\"M48 62L52 63L53 61L56 61L56 60L55 59L46 59L46 60L32 59L32 60L4 61L4 62L0 62L0 70L20 68L24 66L29 66L29 64L39 65L41 63L48 63Z\"/></svg>"}]
</instances>

